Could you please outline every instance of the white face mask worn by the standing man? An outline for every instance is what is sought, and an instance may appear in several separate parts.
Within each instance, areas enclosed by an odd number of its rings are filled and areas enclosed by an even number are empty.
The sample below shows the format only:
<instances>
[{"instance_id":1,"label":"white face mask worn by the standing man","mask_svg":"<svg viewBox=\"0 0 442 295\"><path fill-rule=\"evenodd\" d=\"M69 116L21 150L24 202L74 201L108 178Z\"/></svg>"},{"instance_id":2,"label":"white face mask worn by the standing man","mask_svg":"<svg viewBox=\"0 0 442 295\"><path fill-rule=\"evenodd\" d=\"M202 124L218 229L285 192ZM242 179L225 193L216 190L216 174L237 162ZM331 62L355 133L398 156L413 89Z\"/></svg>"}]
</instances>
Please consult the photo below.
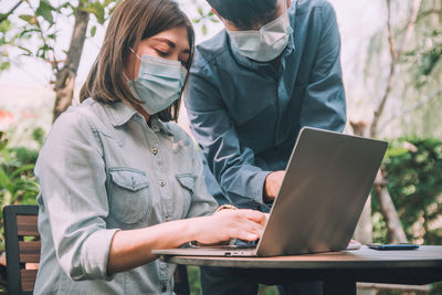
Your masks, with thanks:
<instances>
[{"instance_id":1,"label":"white face mask worn by the standing man","mask_svg":"<svg viewBox=\"0 0 442 295\"><path fill-rule=\"evenodd\" d=\"M257 62L276 59L287 46L290 34L293 33L287 11L260 30L227 31L238 52Z\"/></svg>"}]
</instances>

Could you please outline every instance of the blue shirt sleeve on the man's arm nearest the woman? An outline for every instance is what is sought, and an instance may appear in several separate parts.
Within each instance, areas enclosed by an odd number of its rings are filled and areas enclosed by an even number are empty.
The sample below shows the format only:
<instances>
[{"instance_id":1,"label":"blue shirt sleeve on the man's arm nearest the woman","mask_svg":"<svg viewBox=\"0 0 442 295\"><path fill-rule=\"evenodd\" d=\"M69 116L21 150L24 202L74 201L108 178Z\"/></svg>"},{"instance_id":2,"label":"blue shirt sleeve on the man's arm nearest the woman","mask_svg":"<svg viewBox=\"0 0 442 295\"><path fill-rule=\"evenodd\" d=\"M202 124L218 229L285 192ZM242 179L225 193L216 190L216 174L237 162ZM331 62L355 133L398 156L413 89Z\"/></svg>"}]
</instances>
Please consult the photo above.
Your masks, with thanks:
<instances>
[{"instance_id":1,"label":"blue shirt sleeve on the man's arm nearest the woman","mask_svg":"<svg viewBox=\"0 0 442 295\"><path fill-rule=\"evenodd\" d=\"M270 171L254 165L254 151L241 146L210 74L193 67L186 93L191 131L200 144L213 176L235 204L263 203L264 180Z\"/></svg>"}]
</instances>

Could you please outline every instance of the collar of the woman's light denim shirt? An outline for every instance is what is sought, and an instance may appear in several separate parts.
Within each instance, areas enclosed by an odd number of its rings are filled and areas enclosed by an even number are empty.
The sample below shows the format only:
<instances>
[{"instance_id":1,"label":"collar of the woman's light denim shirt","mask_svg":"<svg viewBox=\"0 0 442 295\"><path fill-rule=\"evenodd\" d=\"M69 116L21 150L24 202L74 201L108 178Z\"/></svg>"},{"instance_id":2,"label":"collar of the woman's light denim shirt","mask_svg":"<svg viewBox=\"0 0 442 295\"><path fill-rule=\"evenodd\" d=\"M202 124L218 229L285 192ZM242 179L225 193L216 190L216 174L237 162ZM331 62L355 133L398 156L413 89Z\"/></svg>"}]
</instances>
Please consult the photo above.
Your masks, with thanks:
<instances>
[{"instance_id":1,"label":"collar of the woman's light denim shirt","mask_svg":"<svg viewBox=\"0 0 442 295\"><path fill-rule=\"evenodd\" d=\"M141 114L139 114L135 108L126 105L123 102L106 105L106 113L114 127L125 125L134 116L135 118L146 124L145 118L141 116ZM149 120L151 126L150 128L155 133L165 133L167 135L172 135L170 128L164 122L161 122L158 116L152 115L150 116Z\"/></svg>"}]
</instances>

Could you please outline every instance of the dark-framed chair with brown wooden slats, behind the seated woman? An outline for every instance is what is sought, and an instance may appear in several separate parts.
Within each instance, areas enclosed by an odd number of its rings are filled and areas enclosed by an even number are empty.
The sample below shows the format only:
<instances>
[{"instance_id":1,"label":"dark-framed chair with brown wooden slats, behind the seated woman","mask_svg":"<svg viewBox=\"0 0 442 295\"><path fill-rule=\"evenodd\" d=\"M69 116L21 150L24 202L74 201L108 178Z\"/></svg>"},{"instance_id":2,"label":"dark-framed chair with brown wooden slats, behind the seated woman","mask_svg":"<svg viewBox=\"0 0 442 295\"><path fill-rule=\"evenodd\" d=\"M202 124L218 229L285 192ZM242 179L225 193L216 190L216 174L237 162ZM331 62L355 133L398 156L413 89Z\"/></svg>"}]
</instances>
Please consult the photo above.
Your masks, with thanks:
<instances>
[{"instance_id":1,"label":"dark-framed chair with brown wooden slats, behind the seated woman","mask_svg":"<svg viewBox=\"0 0 442 295\"><path fill-rule=\"evenodd\" d=\"M12 204L3 208L9 294L32 294L34 288L41 249L38 214L38 206ZM189 295L186 266L178 265L173 277L175 293Z\"/></svg>"}]
</instances>

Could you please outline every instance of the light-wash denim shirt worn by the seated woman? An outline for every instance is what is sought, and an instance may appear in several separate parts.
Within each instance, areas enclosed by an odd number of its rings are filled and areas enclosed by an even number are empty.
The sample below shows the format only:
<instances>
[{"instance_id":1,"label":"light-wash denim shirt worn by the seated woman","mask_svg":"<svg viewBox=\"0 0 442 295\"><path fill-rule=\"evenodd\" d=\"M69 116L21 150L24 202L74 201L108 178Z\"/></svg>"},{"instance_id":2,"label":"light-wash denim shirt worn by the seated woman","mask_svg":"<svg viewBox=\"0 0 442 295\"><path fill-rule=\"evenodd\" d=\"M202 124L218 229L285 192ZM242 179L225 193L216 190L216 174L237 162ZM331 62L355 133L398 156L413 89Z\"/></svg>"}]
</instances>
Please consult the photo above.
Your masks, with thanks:
<instances>
[{"instance_id":1,"label":"light-wash denim shirt worn by the seated woman","mask_svg":"<svg viewBox=\"0 0 442 295\"><path fill-rule=\"evenodd\" d=\"M54 124L35 175L42 240L35 294L171 294L175 266L156 260L107 275L118 230L204 215L208 193L192 139L176 124L91 98Z\"/></svg>"}]
</instances>

